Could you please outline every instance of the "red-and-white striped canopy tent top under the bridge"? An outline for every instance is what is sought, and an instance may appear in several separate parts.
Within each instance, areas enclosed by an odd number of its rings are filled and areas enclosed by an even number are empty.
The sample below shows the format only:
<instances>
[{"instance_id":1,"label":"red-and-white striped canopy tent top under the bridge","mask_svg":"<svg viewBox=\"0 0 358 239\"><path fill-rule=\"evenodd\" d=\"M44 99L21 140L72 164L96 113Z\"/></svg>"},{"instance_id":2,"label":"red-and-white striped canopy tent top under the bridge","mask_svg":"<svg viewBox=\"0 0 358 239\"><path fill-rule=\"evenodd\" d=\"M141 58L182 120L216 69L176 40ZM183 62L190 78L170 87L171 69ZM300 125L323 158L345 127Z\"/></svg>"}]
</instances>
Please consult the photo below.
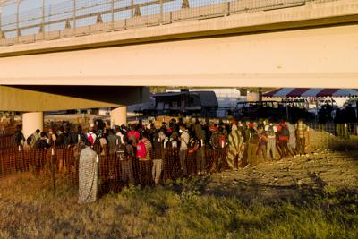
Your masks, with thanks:
<instances>
[{"instance_id":1,"label":"red-and-white striped canopy tent top under the bridge","mask_svg":"<svg viewBox=\"0 0 358 239\"><path fill-rule=\"evenodd\" d=\"M358 89L280 88L262 96L268 98L358 97Z\"/></svg>"}]
</instances>

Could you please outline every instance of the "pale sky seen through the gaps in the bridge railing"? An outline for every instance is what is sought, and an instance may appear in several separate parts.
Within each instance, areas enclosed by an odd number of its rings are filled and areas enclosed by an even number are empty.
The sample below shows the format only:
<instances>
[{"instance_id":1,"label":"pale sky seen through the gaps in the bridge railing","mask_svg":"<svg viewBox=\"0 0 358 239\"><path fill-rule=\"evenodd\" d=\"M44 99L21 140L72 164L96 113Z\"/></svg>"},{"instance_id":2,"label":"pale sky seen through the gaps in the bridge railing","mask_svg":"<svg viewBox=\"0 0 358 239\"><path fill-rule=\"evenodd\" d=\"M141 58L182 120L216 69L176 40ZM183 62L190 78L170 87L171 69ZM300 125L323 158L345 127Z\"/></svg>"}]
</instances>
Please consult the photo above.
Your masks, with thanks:
<instances>
[{"instance_id":1,"label":"pale sky seen through the gaps in the bridge railing","mask_svg":"<svg viewBox=\"0 0 358 239\"><path fill-rule=\"evenodd\" d=\"M57 13L54 17L47 17L46 21L68 19L72 18L72 0L45 0L45 15ZM131 5L132 0L115 0L115 8ZM150 2L153 0L134 0L134 4L140 4ZM207 4L223 3L225 0L189 0L191 7L199 7ZM174 0L169 3L163 4L163 11L171 12L180 10L183 0ZM98 5L99 4L99 5ZM86 7L86 9L83 9ZM111 7L111 0L76 0L77 15L98 13L109 10ZM2 29L9 30L16 27L16 4L5 6L1 16ZM81 10L82 9L82 10ZM160 13L159 4L150 5L147 7L141 7L141 15L151 15ZM132 16L131 11L122 11L115 13L115 21L121 19L128 19ZM80 19L76 21L76 26L87 26L96 23L97 18L91 17L86 19ZM111 14L102 15L104 22L111 21ZM42 22L42 0L23 0L20 5L20 21L21 26L27 26L32 24L39 24ZM70 21L71 25L73 22ZM62 30L64 29L64 22L47 25L45 30ZM39 28L22 30L22 35L30 35L38 33ZM16 37L16 32L6 32L6 38Z\"/></svg>"}]
</instances>

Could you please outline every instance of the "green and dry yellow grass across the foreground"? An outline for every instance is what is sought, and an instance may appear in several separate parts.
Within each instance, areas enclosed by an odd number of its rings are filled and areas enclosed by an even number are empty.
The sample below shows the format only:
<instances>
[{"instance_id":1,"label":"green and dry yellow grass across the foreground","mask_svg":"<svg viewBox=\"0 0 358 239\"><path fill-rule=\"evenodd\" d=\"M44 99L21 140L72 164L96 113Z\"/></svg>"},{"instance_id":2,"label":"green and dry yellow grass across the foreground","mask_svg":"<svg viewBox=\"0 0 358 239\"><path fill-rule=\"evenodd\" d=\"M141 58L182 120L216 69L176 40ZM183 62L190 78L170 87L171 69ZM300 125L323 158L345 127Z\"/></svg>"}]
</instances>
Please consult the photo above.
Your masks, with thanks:
<instances>
[{"instance_id":1,"label":"green and dry yellow grass across the foreground","mask_svg":"<svg viewBox=\"0 0 358 239\"><path fill-rule=\"evenodd\" d=\"M329 186L305 188L299 201L248 202L202 192L194 177L81 206L74 188L21 178L0 182L0 238L358 238L357 194Z\"/></svg>"}]
</instances>

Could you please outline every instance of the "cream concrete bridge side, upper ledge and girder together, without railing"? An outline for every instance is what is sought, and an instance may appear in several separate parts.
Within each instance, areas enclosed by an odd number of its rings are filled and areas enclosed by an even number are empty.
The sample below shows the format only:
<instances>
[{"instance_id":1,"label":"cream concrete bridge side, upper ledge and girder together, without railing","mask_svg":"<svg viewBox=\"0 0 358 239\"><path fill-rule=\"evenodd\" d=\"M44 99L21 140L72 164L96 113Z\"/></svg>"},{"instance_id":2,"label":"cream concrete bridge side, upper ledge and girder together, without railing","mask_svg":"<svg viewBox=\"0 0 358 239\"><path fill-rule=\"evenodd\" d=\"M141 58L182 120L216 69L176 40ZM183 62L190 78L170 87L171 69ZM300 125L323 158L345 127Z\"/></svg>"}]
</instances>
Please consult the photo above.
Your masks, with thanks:
<instances>
[{"instance_id":1,"label":"cream concrete bridge side, upper ledge and girder together, without railing","mask_svg":"<svg viewBox=\"0 0 358 239\"><path fill-rule=\"evenodd\" d=\"M315 2L0 47L0 84L358 88L358 2Z\"/></svg>"}]
</instances>

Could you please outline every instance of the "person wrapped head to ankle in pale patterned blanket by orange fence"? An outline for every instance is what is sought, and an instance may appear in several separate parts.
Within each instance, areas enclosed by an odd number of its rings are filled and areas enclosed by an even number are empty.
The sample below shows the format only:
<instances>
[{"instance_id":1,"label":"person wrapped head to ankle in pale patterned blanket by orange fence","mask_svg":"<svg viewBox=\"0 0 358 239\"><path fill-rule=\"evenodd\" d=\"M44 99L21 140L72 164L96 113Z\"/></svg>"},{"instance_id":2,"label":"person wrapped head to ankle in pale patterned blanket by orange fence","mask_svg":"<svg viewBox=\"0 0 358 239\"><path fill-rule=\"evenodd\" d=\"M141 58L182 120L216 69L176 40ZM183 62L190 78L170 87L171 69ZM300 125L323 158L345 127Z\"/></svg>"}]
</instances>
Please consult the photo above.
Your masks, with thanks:
<instances>
[{"instance_id":1,"label":"person wrapped head to ankle in pale patterned blanket by orange fence","mask_svg":"<svg viewBox=\"0 0 358 239\"><path fill-rule=\"evenodd\" d=\"M79 166L79 203L89 203L98 200L99 159L98 154L91 149L90 141L81 150Z\"/></svg>"}]
</instances>

